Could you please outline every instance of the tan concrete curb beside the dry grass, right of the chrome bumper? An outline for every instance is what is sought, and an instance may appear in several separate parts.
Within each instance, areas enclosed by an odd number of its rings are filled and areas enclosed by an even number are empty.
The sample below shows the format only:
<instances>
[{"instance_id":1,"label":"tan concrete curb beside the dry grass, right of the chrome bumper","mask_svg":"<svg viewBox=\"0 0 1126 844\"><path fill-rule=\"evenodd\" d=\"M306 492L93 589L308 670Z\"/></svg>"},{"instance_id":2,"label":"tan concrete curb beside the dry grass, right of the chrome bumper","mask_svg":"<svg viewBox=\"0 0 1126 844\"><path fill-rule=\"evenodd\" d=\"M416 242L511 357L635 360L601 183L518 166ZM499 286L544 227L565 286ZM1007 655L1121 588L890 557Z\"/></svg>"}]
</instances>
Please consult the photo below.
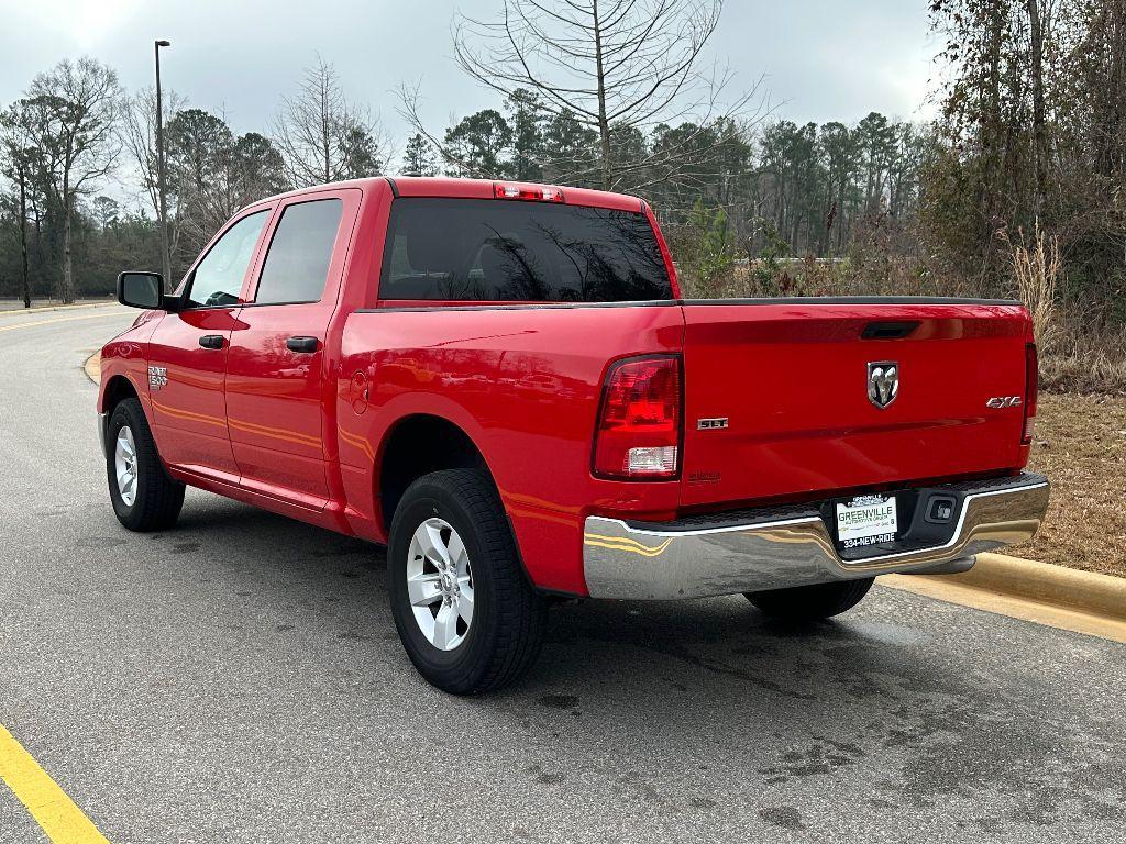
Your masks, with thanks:
<instances>
[{"instance_id":1,"label":"tan concrete curb beside the dry grass, right of the chrome bumper","mask_svg":"<svg viewBox=\"0 0 1126 844\"><path fill-rule=\"evenodd\" d=\"M968 572L884 575L885 586L948 603L1126 643L1126 578L1001 554Z\"/></svg>"}]
</instances>

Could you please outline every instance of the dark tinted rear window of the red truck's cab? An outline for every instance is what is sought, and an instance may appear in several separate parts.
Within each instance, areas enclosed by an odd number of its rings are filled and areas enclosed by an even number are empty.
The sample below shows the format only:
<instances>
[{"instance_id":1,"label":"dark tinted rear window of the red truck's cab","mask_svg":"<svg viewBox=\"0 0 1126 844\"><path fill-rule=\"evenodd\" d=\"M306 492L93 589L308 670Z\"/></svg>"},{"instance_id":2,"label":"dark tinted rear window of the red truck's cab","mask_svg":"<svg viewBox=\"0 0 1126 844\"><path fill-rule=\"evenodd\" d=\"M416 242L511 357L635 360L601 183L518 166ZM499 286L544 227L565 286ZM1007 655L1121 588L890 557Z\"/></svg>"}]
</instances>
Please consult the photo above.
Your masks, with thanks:
<instances>
[{"instance_id":1,"label":"dark tinted rear window of the red truck's cab","mask_svg":"<svg viewBox=\"0 0 1126 844\"><path fill-rule=\"evenodd\" d=\"M638 302L672 288L640 212L403 197L391 206L379 298Z\"/></svg>"}]
</instances>

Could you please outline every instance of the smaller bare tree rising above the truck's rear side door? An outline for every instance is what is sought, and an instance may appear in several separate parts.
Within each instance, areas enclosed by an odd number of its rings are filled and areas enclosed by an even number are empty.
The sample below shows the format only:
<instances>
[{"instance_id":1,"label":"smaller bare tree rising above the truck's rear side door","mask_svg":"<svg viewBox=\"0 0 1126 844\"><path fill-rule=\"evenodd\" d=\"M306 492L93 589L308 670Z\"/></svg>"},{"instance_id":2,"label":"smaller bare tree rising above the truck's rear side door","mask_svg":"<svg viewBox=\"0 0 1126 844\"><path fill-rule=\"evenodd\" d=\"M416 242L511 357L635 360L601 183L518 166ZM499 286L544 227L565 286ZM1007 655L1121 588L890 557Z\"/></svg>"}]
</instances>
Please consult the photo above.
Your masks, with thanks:
<instances>
[{"instance_id":1,"label":"smaller bare tree rising above the truck's rear side door","mask_svg":"<svg viewBox=\"0 0 1126 844\"><path fill-rule=\"evenodd\" d=\"M282 98L274 140L298 187L378 176L384 146L378 123L350 102L336 69L316 57L293 97Z\"/></svg>"}]
</instances>

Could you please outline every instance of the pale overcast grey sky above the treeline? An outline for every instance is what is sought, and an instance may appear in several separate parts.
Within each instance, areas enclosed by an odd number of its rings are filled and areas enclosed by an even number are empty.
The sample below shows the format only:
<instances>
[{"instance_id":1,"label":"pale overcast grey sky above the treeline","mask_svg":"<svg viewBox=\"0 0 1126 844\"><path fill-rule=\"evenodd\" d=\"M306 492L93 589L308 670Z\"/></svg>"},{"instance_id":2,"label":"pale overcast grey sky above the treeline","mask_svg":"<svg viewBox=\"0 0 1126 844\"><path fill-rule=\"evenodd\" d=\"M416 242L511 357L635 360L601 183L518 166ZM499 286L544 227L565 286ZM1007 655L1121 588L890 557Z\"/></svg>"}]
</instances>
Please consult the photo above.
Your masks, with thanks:
<instances>
[{"instance_id":1,"label":"pale overcast grey sky above the treeline","mask_svg":"<svg viewBox=\"0 0 1126 844\"><path fill-rule=\"evenodd\" d=\"M279 97L318 52L348 95L368 102L401 149L406 127L393 90L421 80L423 115L495 107L498 97L454 64L450 19L491 17L501 0L0 0L0 105L60 59L92 55L129 89L151 84L152 41L164 87L224 114L236 132L263 131ZM766 74L780 116L852 123L869 111L921 119L935 41L927 0L726 0L709 59L736 86Z\"/></svg>"}]
</instances>

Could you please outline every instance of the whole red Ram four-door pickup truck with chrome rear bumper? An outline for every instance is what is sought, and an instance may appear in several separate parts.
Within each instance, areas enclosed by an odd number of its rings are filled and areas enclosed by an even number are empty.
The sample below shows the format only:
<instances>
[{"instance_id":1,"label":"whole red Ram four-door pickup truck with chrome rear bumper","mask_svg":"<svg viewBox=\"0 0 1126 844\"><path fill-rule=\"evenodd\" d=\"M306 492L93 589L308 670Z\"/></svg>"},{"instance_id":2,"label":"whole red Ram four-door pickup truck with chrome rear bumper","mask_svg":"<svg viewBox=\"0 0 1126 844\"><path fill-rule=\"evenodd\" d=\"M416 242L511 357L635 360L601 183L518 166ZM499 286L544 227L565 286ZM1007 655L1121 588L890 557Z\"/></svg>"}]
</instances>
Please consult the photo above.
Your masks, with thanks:
<instances>
[{"instance_id":1,"label":"whole red Ram four-door pickup truck with chrome rear bumper","mask_svg":"<svg viewBox=\"0 0 1126 844\"><path fill-rule=\"evenodd\" d=\"M399 635L449 692L526 670L555 598L820 619L1047 505L1018 303L682 299L628 196L301 190L118 299L144 308L101 351L122 524L170 528L190 484L386 544Z\"/></svg>"}]
</instances>

